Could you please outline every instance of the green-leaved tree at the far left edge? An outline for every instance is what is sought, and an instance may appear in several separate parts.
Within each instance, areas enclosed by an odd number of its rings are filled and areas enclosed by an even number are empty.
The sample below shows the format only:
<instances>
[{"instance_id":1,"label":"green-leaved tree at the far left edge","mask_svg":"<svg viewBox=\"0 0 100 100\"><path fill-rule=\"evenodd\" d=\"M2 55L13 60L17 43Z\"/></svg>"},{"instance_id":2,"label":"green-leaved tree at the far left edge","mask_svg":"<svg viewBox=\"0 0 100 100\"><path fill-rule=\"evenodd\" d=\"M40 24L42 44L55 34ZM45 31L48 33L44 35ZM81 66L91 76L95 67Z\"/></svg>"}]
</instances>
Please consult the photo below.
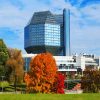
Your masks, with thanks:
<instances>
[{"instance_id":1,"label":"green-leaved tree at the far left edge","mask_svg":"<svg viewBox=\"0 0 100 100\"><path fill-rule=\"evenodd\" d=\"M2 39L0 39L0 77L5 76L5 64L9 58L7 47Z\"/></svg>"}]
</instances>

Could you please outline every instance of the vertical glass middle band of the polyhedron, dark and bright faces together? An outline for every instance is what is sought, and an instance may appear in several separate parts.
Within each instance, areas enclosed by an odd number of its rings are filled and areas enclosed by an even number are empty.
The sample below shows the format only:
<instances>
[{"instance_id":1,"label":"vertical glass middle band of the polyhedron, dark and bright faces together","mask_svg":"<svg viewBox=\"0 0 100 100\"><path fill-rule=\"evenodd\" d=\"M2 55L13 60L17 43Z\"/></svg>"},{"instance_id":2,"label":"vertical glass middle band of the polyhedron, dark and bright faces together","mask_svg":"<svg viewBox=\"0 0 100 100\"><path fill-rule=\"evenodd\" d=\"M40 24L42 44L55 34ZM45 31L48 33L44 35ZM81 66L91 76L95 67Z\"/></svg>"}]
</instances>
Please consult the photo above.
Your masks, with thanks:
<instances>
[{"instance_id":1,"label":"vertical glass middle band of the polyhedron, dark and bright faces together","mask_svg":"<svg viewBox=\"0 0 100 100\"><path fill-rule=\"evenodd\" d=\"M60 46L59 24L37 24L25 28L25 47L50 45Z\"/></svg>"}]
</instances>

